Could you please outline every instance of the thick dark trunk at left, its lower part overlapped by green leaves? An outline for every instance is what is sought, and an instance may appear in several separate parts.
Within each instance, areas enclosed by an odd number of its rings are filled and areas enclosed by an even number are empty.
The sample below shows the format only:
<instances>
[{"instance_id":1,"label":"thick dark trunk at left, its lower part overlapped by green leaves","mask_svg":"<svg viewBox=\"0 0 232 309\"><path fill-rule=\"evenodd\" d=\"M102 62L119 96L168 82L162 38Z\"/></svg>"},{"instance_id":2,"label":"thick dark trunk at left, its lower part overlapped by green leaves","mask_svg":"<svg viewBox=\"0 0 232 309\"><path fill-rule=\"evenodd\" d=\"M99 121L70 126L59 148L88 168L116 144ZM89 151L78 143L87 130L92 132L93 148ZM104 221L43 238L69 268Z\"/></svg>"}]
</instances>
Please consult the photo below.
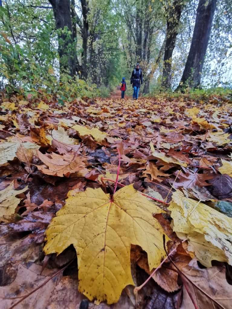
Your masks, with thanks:
<instances>
[{"instance_id":1,"label":"thick dark trunk at left, its lower part overlapped by green leaves","mask_svg":"<svg viewBox=\"0 0 232 309\"><path fill-rule=\"evenodd\" d=\"M70 0L49 0L58 30L60 74L75 75L77 55L73 35Z\"/></svg>"}]
</instances>

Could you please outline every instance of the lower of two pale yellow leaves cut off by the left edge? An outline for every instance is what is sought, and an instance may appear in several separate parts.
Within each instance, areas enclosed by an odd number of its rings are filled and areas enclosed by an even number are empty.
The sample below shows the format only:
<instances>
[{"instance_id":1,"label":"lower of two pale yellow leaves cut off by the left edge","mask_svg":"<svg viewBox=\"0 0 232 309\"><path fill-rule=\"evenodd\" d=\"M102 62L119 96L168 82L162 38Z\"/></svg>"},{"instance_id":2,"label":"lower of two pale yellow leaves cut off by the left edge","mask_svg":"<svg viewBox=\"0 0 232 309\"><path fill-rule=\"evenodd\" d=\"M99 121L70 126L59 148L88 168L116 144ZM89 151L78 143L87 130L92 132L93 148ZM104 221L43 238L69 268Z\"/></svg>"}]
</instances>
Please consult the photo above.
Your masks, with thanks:
<instances>
[{"instance_id":1,"label":"lower of two pale yellow leaves cut off by the left edge","mask_svg":"<svg viewBox=\"0 0 232 309\"><path fill-rule=\"evenodd\" d=\"M20 202L20 199L15 195L23 193L27 189L28 186L22 190L14 190L14 181L12 181L8 187L0 191L0 217L14 214L15 208Z\"/></svg>"}]
</instances>

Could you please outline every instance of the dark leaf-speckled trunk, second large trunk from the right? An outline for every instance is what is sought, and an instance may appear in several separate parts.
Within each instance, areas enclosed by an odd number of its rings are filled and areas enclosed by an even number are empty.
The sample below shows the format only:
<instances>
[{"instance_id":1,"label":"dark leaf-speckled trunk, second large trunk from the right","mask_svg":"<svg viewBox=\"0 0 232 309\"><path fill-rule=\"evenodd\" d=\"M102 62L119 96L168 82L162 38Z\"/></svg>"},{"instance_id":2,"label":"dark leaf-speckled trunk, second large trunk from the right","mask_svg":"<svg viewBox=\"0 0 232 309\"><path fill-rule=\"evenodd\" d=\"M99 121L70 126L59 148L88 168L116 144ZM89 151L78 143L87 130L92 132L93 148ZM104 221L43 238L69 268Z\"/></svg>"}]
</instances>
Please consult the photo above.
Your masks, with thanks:
<instances>
[{"instance_id":1,"label":"dark leaf-speckled trunk, second large trunk from the right","mask_svg":"<svg viewBox=\"0 0 232 309\"><path fill-rule=\"evenodd\" d=\"M171 87L171 66L172 54L178 35L178 26L183 9L182 0L174 0L171 6L167 19L166 42L164 51L164 67L161 88L168 89Z\"/></svg>"}]
</instances>

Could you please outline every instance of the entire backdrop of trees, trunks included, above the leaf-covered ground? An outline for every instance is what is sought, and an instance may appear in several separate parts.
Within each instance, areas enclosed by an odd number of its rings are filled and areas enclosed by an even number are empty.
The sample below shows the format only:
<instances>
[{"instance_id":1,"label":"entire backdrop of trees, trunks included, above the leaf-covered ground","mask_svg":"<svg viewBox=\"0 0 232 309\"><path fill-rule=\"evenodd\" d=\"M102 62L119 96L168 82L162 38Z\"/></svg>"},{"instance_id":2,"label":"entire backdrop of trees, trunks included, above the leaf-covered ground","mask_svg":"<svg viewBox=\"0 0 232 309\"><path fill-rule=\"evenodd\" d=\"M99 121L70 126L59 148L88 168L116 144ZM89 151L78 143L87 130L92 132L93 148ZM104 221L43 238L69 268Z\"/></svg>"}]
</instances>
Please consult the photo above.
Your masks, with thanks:
<instances>
[{"instance_id":1,"label":"entire backdrop of trees, trunks included, above the leaf-covered ground","mask_svg":"<svg viewBox=\"0 0 232 309\"><path fill-rule=\"evenodd\" d=\"M139 62L143 93L231 87L231 17L231 0L5 0L0 86L53 92L79 80L81 89L107 92Z\"/></svg>"}]
</instances>

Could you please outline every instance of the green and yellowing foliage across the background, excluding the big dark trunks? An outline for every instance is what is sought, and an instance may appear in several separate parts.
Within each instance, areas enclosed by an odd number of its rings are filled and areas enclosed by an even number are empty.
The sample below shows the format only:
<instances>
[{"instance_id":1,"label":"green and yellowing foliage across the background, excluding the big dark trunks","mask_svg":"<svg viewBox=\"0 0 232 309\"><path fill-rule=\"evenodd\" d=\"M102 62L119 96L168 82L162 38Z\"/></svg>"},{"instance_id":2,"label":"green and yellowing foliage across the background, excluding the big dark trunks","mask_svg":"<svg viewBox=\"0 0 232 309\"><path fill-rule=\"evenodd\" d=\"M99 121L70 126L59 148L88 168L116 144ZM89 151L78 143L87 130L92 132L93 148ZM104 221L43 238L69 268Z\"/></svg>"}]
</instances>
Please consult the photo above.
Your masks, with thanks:
<instances>
[{"instance_id":1,"label":"green and yellowing foliage across the background, excluding the big dark trunks","mask_svg":"<svg viewBox=\"0 0 232 309\"><path fill-rule=\"evenodd\" d=\"M183 73L195 21L195 1L184 2L186 6L172 57L172 90L178 85ZM232 85L229 65L232 59L230 2L231 0L222 0L217 3L202 72L204 87ZM75 23L75 18L73 17L73 23L77 36L73 44L67 44L65 52L59 58L58 46L62 46L65 39L71 41L72 33L67 28L58 31L55 29L54 12L47 8L50 7L49 1L3 1L0 7L0 89L5 88L9 94L20 89L24 94L33 95L43 89L47 93L57 93L60 104L75 96L105 97L118 86L123 76L126 78L127 88L130 88L131 71L139 60L144 72L144 84L149 76L150 93L157 94L161 85L167 7L172 3L173 1L166 0L103 0L99 4L97 0L89 0L88 78L84 82L77 77L70 80L63 71L60 72L59 66L62 61L67 63L70 60L68 56L75 54L74 49L79 63L82 63L82 30L79 23ZM77 0L74 9L83 24L82 8ZM138 45L140 35L141 46ZM140 59L139 53L143 56ZM68 68L66 71L68 73ZM143 87L144 85L141 87L141 94ZM186 91L198 98L219 90Z\"/></svg>"}]
</instances>

